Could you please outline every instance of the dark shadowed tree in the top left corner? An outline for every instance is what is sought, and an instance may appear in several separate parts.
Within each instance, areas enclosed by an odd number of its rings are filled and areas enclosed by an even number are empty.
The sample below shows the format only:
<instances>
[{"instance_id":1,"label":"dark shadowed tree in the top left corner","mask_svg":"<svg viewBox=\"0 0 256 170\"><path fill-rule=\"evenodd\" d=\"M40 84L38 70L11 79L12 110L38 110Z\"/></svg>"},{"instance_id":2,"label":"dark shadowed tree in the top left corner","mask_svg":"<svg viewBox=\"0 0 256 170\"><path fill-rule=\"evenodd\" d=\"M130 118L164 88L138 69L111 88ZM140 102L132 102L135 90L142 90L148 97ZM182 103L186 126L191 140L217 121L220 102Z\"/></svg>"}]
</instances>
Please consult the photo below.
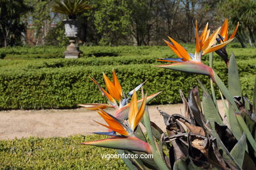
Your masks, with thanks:
<instances>
[{"instance_id":1,"label":"dark shadowed tree in the top left corner","mask_svg":"<svg viewBox=\"0 0 256 170\"><path fill-rule=\"evenodd\" d=\"M32 10L23 0L0 0L0 43L1 46L14 46L21 42L22 33L26 31L21 18Z\"/></svg>"}]
</instances>

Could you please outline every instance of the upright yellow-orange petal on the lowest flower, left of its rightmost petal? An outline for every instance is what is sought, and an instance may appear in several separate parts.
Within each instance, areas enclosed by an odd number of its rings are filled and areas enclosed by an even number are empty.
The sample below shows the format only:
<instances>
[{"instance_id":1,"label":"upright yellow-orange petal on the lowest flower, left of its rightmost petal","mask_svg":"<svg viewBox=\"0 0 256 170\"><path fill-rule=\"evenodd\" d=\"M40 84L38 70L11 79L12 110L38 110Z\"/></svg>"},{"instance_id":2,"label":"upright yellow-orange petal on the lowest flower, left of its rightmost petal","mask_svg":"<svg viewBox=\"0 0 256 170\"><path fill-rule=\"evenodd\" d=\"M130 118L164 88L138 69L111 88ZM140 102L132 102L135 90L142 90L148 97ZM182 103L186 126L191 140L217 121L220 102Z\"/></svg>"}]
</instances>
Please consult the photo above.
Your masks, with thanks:
<instances>
[{"instance_id":1,"label":"upright yellow-orange petal on the lowest flower, left of its rightmost petal","mask_svg":"<svg viewBox=\"0 0 256 170\"><path fill-rule=\"evenodd\" d=\"M130 110L129 110L129 115L128 115L129 124L132 127L132 129L133 129L133 126L135 123L137 112L138 112L137 93L134 90L133 97L131 98Z\"/></svg>"}]
</instances>

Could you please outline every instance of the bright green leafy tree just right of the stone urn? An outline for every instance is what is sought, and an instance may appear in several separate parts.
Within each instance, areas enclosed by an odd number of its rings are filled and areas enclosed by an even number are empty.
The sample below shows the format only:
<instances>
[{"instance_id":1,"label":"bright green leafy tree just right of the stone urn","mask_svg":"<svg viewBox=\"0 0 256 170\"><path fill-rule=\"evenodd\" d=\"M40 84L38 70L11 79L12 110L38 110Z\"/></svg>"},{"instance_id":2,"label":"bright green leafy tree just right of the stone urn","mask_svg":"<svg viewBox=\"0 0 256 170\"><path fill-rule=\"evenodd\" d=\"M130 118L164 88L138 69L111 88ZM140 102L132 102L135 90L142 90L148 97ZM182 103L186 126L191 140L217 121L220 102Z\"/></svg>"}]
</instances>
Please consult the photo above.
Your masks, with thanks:
<instances>
[{"instance_id":1,"label":"bright green leafy tree just right of the stone urn","mask_svg":"<svg viewBox=\"0 0 256 170\"><path fill-rule=\"evenodd\" d=\"M100 45L117 45L127 41L129 35L130 10L129 1L96 1L95 26L101 35ZM118 40L118 41L117 41ZM121 42L119 42L121 41Z\"/></svg>"}]
</instances>

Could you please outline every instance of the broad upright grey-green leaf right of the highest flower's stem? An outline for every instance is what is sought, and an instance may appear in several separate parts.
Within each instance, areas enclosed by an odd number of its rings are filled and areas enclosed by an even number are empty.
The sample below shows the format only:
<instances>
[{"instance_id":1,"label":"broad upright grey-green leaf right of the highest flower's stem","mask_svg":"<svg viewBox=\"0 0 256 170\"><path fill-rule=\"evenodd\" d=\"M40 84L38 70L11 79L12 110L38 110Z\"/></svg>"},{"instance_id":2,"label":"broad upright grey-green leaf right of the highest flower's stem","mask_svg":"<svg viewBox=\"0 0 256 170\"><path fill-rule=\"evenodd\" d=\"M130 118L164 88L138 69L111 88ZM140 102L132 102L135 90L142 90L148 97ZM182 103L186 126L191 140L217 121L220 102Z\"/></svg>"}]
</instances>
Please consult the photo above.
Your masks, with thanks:
<instances>
[{"instance_id":1,"label":"broad upright grey-green leaf right of the highest flower's stem","mask_svg":"<svg viewBox=\"0 0 256 170\"><path fill-rule=\"evenodd\" d=\"M228 67L228 91L232 97L238 95L242 96L241 84L238 74L238 65L234 53L230 56Z\"/></svg>"}]
</instances>

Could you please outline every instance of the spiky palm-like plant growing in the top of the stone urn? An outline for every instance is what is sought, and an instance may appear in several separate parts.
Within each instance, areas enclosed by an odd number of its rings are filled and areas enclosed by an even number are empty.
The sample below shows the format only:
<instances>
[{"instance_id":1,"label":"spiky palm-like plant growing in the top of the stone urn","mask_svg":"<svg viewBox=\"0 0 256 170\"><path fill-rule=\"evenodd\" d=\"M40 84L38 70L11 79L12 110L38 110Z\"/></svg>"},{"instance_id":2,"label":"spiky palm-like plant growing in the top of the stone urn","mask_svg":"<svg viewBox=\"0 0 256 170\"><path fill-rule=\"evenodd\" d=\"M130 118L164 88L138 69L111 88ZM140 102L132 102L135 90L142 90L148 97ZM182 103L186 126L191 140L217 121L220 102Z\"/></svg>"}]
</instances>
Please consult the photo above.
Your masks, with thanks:
<instances>
[{"instance_id":1,"label":"spiky palm-like plant growing in the top of the stone urn","mask_svg":"<svg viewBox=\"0 0 256 170\"><path fill-rule=\"evenodd\" d=\"M91 9L87 0L61 0L54 1L53 12L66 14L69 19L75 20L77 15Z\"/></svg>"}]
</instances>

